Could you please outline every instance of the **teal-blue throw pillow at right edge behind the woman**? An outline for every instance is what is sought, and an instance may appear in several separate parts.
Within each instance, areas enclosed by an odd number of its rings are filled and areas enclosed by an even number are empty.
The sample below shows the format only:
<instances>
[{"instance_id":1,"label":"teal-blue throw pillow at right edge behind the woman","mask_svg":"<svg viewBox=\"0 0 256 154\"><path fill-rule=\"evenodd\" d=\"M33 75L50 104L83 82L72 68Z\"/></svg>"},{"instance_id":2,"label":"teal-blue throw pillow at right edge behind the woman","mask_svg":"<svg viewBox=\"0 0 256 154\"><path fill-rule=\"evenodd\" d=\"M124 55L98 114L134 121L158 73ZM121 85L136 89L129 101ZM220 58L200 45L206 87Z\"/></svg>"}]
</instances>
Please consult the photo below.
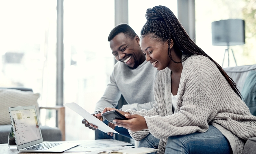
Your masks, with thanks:
<instances>
[{"instance_id":1,"label":"teal-blue throw pillow at right edge behind the woman","mask_svg":"<svg viewBox=\"0 0 256 154\"><path fill-rule=\"evenodd\" d=\"M249 72L241 94L252 115L256 116L256 71Z\"/></svg>"}]
</instances>

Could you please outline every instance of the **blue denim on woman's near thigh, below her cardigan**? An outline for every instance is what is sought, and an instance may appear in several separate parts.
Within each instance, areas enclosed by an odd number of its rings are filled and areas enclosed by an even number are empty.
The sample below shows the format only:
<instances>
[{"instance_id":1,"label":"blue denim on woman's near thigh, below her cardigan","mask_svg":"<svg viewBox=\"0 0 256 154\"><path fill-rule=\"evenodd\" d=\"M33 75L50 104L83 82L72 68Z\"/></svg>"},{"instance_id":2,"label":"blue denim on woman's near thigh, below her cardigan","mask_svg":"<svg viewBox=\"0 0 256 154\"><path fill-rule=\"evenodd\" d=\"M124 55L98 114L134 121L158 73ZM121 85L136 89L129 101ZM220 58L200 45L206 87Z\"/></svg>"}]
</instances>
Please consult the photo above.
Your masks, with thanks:
<instances>
[{"instance_id":1,"label":"blue denim on woman's near thigh, below her cardigan","mask_svg":"<svg viewBox=\"0 0 256 154\"><path fill-rule=\"evenodd\" d=\"M202 132L168 137L165 154L232 154L228 139L212 125Z\"/></svg>"}]
</instances>

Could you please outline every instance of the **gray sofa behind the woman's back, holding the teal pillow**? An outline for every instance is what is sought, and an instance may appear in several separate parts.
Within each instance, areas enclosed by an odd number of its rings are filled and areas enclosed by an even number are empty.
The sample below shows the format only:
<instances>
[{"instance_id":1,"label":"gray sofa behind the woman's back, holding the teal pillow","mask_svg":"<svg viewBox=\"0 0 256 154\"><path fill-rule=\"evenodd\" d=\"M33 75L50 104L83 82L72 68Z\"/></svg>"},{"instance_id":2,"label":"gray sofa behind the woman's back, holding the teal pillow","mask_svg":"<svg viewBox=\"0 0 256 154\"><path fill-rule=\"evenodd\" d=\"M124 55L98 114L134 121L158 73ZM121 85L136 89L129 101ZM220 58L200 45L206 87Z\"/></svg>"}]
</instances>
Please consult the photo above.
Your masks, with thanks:
<instances>
[{"instance_id":1,"label":"gray sofa behind the woman's back, holding the teal pillow","mask_svg":"<svg viewBox=\"0 0 256 154\"><path fill-rule=\"evenodd\" d=\"M236 83L243 96L242 99L249 107L252 115L256 116L256 65L236 66L223 69ZM255 153L256 137L252 137L246 141L243 154Z\"/></svg>"}]
</instances>

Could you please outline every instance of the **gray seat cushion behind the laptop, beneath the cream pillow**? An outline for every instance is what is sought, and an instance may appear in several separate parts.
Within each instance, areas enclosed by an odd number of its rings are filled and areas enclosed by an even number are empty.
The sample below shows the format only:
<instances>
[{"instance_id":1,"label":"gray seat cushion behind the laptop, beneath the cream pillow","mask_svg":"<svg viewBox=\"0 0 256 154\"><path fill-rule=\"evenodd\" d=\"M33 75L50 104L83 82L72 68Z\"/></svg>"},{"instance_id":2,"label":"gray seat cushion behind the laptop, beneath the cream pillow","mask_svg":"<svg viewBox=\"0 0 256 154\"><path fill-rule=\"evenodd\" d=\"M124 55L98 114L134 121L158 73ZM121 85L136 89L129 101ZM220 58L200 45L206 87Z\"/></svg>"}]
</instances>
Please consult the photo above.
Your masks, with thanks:
<instances>
[{"instance_id":1,"label":"gray seat cushion behind the laptop, beneath the cream pillow","mask_svg":"<svg viewBox=\"0 0 256 154\"><path fill-rule=\"evenodd\" d=\"M41 126L41 133L43 136L43 141L61 141L61 130L58 128L52 128L49 126ZM11 130L11 125L0 125L0 144L8 143L7 137L9 131Z\"/></svg>"}]
</instances>

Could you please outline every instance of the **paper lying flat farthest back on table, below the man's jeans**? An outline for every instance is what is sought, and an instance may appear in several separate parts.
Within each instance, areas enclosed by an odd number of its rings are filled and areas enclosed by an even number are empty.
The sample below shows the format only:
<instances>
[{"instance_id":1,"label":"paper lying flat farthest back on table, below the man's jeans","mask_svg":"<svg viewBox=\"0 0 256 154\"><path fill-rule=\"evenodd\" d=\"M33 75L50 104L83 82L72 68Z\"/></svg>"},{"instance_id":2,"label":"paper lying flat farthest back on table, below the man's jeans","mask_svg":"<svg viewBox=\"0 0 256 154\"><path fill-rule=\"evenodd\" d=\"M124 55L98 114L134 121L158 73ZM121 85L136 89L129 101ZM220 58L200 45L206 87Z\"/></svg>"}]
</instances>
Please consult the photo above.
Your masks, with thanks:
<instances>
[{"instance_id":1,"label":"paper lying flat farthest back on table, below the man's jeans","mask_svg":"<svg viewBox=\"0 0 256 154\"><path fill-rule=\"evenodd\" d=\"M121 145L132 145L127 142L118 141L114 139L100 139L100 140L87 140L79 142L81 147L93 148L93 147L111 147Z\"/></svg>"}]
</instances>

